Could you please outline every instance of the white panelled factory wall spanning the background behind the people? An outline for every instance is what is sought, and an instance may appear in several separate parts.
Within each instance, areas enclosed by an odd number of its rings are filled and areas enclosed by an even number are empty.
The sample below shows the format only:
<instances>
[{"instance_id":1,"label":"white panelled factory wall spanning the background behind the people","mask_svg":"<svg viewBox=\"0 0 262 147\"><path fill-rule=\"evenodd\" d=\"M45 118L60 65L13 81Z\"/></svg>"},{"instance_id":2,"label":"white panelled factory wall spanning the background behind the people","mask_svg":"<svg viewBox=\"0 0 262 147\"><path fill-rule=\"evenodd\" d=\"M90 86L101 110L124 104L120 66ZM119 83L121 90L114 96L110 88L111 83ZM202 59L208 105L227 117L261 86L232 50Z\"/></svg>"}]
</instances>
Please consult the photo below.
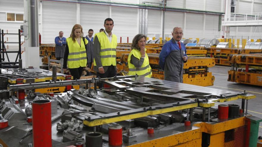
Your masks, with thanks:
<instances>
[{"instance_id":1,"label":"white panelled factory wall spanning the background behind the people","mask_svg":"<svg viewBox=\"0 0 262 147\"><path fill-rule=\"evenodd\" d=\"M159 0L102 0L108 2L157 5ZM167 7L204 10L212 12L224 12L225 0L173 0L167 2ZM9 32L17 32L22 22L7 22L6 12L24 13L22 0L1 0L0 1L0 29ZM109 7L89 4L75 4L64 2L39 1L39 31L42 34L42 43L54 43L54 37L59 31L64 31L64 36L69 37L74 24L80 23L83 26L84 35L88 29L97 33L104 28L105 18L111 17L115 26L113 33L118 36L118 42L129 42L138 33L138 9ZM250 7L247 7L250 6ZM253 6L253 8L251 7ZM237 12L259 12L262 7L262 0L237 0ZM148 36L162 36L162 11L148 10ZM63 15L62 15L63 14ZM67 15L65 15L67 14ZM165 34L171 37L173 27L180 26L184 30L184 38L214 38L221 37L222 31L218 31L219 17L217 15L203 15L184 12L165 13ZM231 31L231 30L235 30ZM238 31L238 32L237 32ZM233 33L234 32L234 33ZM230 28L230 36L236 35L247 37L261 36L261 27L246 27L245 29ZM11 40L12 37L9 37Z\"/></svg>"}]
</instances>

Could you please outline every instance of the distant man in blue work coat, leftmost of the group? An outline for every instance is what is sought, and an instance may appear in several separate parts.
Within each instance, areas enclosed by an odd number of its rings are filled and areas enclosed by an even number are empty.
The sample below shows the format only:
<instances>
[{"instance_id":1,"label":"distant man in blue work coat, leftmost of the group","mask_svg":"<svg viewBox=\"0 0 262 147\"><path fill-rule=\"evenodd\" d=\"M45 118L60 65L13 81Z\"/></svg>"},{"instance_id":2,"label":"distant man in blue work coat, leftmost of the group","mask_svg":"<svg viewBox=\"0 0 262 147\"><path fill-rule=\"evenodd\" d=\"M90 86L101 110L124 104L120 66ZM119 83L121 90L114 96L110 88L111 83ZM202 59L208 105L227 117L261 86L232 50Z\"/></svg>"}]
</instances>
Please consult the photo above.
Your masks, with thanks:
<instances>
[{"instance_id":1,"label":"distant man in blue work coat, leftmost of the group","mask_svg":"<svg viewBox=\"0 0 262 147\"><path fill-rule=\"evenodd\" d=\"M63 37L64 32L60 31L59 36L55 37L54 42L55 42L55 58L57 60L60 60L61 58L64 57L64 52L66 48L66 38Z\"/></svg>"}]
</instances>

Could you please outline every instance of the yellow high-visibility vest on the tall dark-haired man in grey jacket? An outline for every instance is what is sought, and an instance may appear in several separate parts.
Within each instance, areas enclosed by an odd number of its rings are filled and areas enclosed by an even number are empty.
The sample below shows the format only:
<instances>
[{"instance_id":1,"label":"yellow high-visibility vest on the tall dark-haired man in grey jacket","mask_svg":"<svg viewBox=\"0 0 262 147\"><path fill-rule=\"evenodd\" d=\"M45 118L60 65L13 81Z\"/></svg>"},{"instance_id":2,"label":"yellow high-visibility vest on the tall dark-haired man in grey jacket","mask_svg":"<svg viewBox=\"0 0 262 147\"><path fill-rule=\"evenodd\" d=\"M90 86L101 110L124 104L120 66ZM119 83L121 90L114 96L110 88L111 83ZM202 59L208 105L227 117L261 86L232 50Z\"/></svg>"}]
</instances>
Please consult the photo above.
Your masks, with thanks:
<instances>
[{"instance_id":1,"label":"yellow high-visibility vest on the tall dark-haired man in grey jacket","mask_svg":"<svg viewBox=\"0 0 262 147\"><path fill-rule=\"evenodd\" d=\"M96 33L94 39L98 38L100 42L100 59L102 66L116 66L116 46L117 46L117 37L115 34L112 34L112 41L110 43L105 32ZM96 61L94 59L94 66L96 66Z\"/></svg>"}]
</instances>

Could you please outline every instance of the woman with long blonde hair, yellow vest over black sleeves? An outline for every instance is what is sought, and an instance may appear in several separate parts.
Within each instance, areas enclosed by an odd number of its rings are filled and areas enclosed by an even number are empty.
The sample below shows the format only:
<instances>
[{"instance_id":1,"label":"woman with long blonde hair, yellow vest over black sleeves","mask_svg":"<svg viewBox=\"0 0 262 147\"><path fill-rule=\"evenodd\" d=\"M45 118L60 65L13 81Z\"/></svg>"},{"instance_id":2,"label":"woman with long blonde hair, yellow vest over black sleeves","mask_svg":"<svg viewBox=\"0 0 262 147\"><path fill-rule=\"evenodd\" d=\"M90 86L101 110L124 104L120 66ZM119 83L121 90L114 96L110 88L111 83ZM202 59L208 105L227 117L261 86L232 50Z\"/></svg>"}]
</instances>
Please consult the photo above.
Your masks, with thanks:
<instances>
[{"instance_id":1,"label":"woman with long blonde hair, yellow vest over black sleeves","mask_svg":"<svg viewBox=\"0 0 262 147\"><path fill-rule=\"evenodd\" d=\"M66 39L66 50L64 53L64 72L69 68L74 79L80 79L83 68L87 66L86 45L88 40L83 37L83 28L75 24L70 37Z\"/></svg>"}]
</instances>

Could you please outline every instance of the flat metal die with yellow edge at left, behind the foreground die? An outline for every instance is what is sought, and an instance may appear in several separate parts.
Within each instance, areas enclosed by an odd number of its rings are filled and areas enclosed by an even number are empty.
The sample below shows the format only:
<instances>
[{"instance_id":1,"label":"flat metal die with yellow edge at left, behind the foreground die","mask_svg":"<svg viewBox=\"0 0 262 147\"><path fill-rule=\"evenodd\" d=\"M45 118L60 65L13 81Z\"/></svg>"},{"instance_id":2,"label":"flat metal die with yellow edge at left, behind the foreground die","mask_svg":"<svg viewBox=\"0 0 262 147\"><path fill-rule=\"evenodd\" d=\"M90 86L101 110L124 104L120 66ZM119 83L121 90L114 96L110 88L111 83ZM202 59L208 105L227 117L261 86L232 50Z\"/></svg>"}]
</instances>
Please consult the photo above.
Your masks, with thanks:
<instances>
[{"instance_id":1,"label":"flat metal die with yellow edge at left, behind the foreground die","mask_svg":"<svg viewBox=\"0 0 262 147\"><path fill-rule=\"evenodd\" d=\"M17 79L22 78L22 83L37 83L52 80L53 73L49 70L38 68L25 68L25 69L0 69L1 78L8 79L9 84L17 84ZM64 75L56 73L57 80L72 80L71 75Z\"/></svg>"}]
</instances>

